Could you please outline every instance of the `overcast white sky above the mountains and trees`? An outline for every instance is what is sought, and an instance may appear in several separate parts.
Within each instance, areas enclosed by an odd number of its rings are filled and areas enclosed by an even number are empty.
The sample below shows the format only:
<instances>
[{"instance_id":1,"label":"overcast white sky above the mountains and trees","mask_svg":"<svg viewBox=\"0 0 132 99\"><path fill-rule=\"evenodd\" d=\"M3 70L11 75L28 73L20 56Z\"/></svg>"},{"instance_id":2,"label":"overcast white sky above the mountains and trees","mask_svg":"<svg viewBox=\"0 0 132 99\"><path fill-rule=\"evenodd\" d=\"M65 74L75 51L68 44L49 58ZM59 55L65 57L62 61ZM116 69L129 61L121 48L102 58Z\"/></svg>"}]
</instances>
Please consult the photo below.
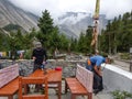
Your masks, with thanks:
<instances>
[{"instance_id":1,"label":"overcast white sky above the mountains and trees","mask_svg":"<svg viewBox=\"0 0 132 99\"><path fill-rule=\"evenodd\" d=\"M53 16L63 12L89 12L94 14L96 0L10 0L15 6L42 15L47 9ZM100 0L100 14L107 18L114 18L124 12L132 11L132 0Z\"/></svg>"}]
</instances>

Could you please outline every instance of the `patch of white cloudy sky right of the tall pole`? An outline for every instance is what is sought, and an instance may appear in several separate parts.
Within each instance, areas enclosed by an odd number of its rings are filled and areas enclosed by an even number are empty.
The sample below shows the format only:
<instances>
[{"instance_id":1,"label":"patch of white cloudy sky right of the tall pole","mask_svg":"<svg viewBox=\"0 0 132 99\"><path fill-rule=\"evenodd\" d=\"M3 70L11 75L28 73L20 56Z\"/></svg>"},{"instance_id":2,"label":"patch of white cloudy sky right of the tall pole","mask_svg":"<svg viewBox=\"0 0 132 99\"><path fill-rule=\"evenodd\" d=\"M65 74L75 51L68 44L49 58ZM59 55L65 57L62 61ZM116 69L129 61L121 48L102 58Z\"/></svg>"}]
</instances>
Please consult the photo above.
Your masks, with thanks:
<instances>
[{"instance_id":1,"label":"patch of white cloudy sky right of the tall pole","mask_svg":"<svg viewBox=\"0 0 132 99\"><path fill-rule=\"evenodd\" d=\"M101 1L101 0L100 0ZM106 13L107 18L118 16L132 10L132 0L102 0L100 13Z\"/></svg>"}]
</instances>

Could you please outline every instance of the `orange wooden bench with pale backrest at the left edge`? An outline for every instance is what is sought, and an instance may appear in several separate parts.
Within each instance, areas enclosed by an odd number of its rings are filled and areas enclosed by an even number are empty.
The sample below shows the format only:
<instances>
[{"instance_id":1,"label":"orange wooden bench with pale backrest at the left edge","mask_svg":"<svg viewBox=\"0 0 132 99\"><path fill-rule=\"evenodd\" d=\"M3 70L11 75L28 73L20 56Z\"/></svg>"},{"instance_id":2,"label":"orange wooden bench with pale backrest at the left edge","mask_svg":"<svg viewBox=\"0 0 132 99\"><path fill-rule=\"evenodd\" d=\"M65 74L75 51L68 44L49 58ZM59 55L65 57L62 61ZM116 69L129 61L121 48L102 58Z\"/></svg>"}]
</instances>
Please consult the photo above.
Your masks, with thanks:
<instances>
[{"instance_id":1,"label":"orange wooden bench with pale backrest at the left edge","mask_svg":"<svg viewBox=\"0 0 132 99\"><path fill-rule=\"evenodd\" d=\"M19 66L18 64L0 69L0 97L13 99L19 90Z\"/></svg>"}]
</instances>

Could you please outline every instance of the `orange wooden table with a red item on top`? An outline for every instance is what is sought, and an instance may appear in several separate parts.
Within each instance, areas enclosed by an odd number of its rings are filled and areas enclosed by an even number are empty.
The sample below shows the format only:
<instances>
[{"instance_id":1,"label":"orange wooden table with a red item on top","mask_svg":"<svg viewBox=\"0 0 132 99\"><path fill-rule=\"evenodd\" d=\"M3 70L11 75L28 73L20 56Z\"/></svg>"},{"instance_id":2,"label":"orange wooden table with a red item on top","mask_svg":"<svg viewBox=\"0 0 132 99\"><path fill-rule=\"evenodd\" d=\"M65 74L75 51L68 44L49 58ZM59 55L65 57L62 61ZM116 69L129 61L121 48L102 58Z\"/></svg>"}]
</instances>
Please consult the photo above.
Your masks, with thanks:
<instances>
[{"instance_id":1,"label":"orange wooden table with a red item on top","mask_svg":"<svg viewBox=\"0 0 132 99\"><path fill-rule=\"evenodd\" d=\"M58 88L58 99L62 99L62 70L46 69L46 73L42 69L35 70L29 77L44 77L47 76L48 84L57 85Z\"/></svg>"}]
</instances>

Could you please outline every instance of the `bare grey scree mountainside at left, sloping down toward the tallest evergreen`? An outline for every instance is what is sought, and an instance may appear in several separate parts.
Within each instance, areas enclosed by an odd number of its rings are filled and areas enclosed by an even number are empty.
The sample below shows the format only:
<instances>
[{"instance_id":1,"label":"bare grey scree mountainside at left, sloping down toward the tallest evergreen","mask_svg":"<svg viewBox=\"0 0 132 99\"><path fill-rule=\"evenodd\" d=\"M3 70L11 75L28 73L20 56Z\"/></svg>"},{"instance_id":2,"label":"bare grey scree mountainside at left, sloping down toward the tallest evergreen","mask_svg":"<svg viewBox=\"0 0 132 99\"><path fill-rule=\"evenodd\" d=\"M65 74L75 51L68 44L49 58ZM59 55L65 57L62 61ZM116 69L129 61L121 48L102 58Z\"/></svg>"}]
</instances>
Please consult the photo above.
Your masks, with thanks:
<instances>
[{"instance_id":1,"label":"bare grey scree mountainside at left, sloping down toward the tallest evergreen","mask_svg":"<svg viewBox=\"0 0 132 99\"><path fill-rule=\"evenodd\" d=\"M8 0L0 0L0 28L4 28L9 24L18 24L25 31L30 31L32 28L37 29L37 16L16 8Z\"/></svg>"}]
</instances>

